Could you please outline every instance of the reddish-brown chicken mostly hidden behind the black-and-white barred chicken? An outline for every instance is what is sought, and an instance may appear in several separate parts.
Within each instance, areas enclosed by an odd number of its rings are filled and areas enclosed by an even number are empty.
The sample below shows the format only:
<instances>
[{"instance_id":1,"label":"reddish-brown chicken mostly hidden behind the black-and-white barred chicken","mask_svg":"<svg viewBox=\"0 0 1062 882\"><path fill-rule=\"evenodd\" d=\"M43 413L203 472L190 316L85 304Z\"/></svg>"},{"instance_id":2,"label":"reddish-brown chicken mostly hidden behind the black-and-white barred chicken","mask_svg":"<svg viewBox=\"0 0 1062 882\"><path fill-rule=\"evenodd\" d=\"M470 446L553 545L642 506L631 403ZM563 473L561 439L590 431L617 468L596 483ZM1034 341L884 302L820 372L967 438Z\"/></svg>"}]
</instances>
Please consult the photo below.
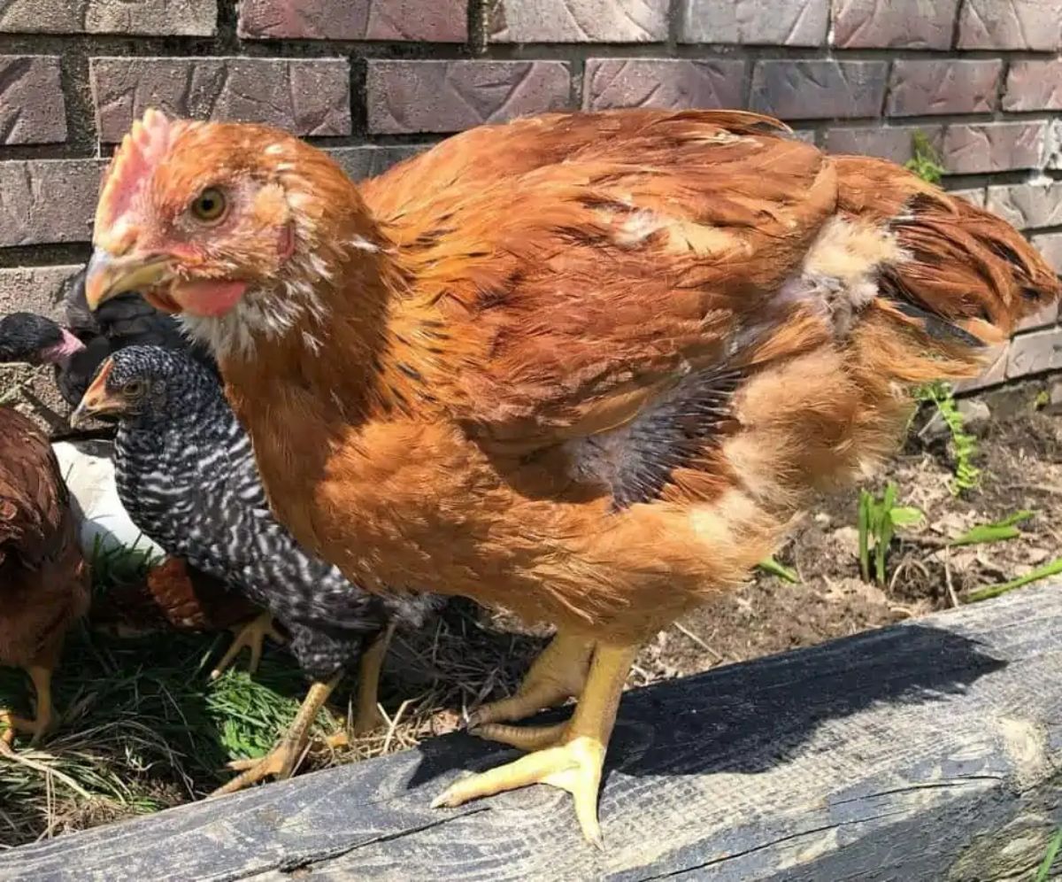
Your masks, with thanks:
<instances>
[{"instance_id":1,"label":"reddish-brown chicken mostly hidden behind the black-and-white barred chicken","mask_svg":"<svg viewBox=\"0 0 1062 882\"><path fill-rule=\"evenodd\" d=\"M240 651L251 650L247 669L254 673L261 661L266 637L284 638L272 617L243 595L229 591L225 582L187 561L168 557L148 571L142 579L113 587L92 606L92 627L117 637L139 637L174 628L178 631L230 630L236 640L210 672L216 679ZM260 627L247 627L247 623Z\"/></svg>"}]
</instances>

